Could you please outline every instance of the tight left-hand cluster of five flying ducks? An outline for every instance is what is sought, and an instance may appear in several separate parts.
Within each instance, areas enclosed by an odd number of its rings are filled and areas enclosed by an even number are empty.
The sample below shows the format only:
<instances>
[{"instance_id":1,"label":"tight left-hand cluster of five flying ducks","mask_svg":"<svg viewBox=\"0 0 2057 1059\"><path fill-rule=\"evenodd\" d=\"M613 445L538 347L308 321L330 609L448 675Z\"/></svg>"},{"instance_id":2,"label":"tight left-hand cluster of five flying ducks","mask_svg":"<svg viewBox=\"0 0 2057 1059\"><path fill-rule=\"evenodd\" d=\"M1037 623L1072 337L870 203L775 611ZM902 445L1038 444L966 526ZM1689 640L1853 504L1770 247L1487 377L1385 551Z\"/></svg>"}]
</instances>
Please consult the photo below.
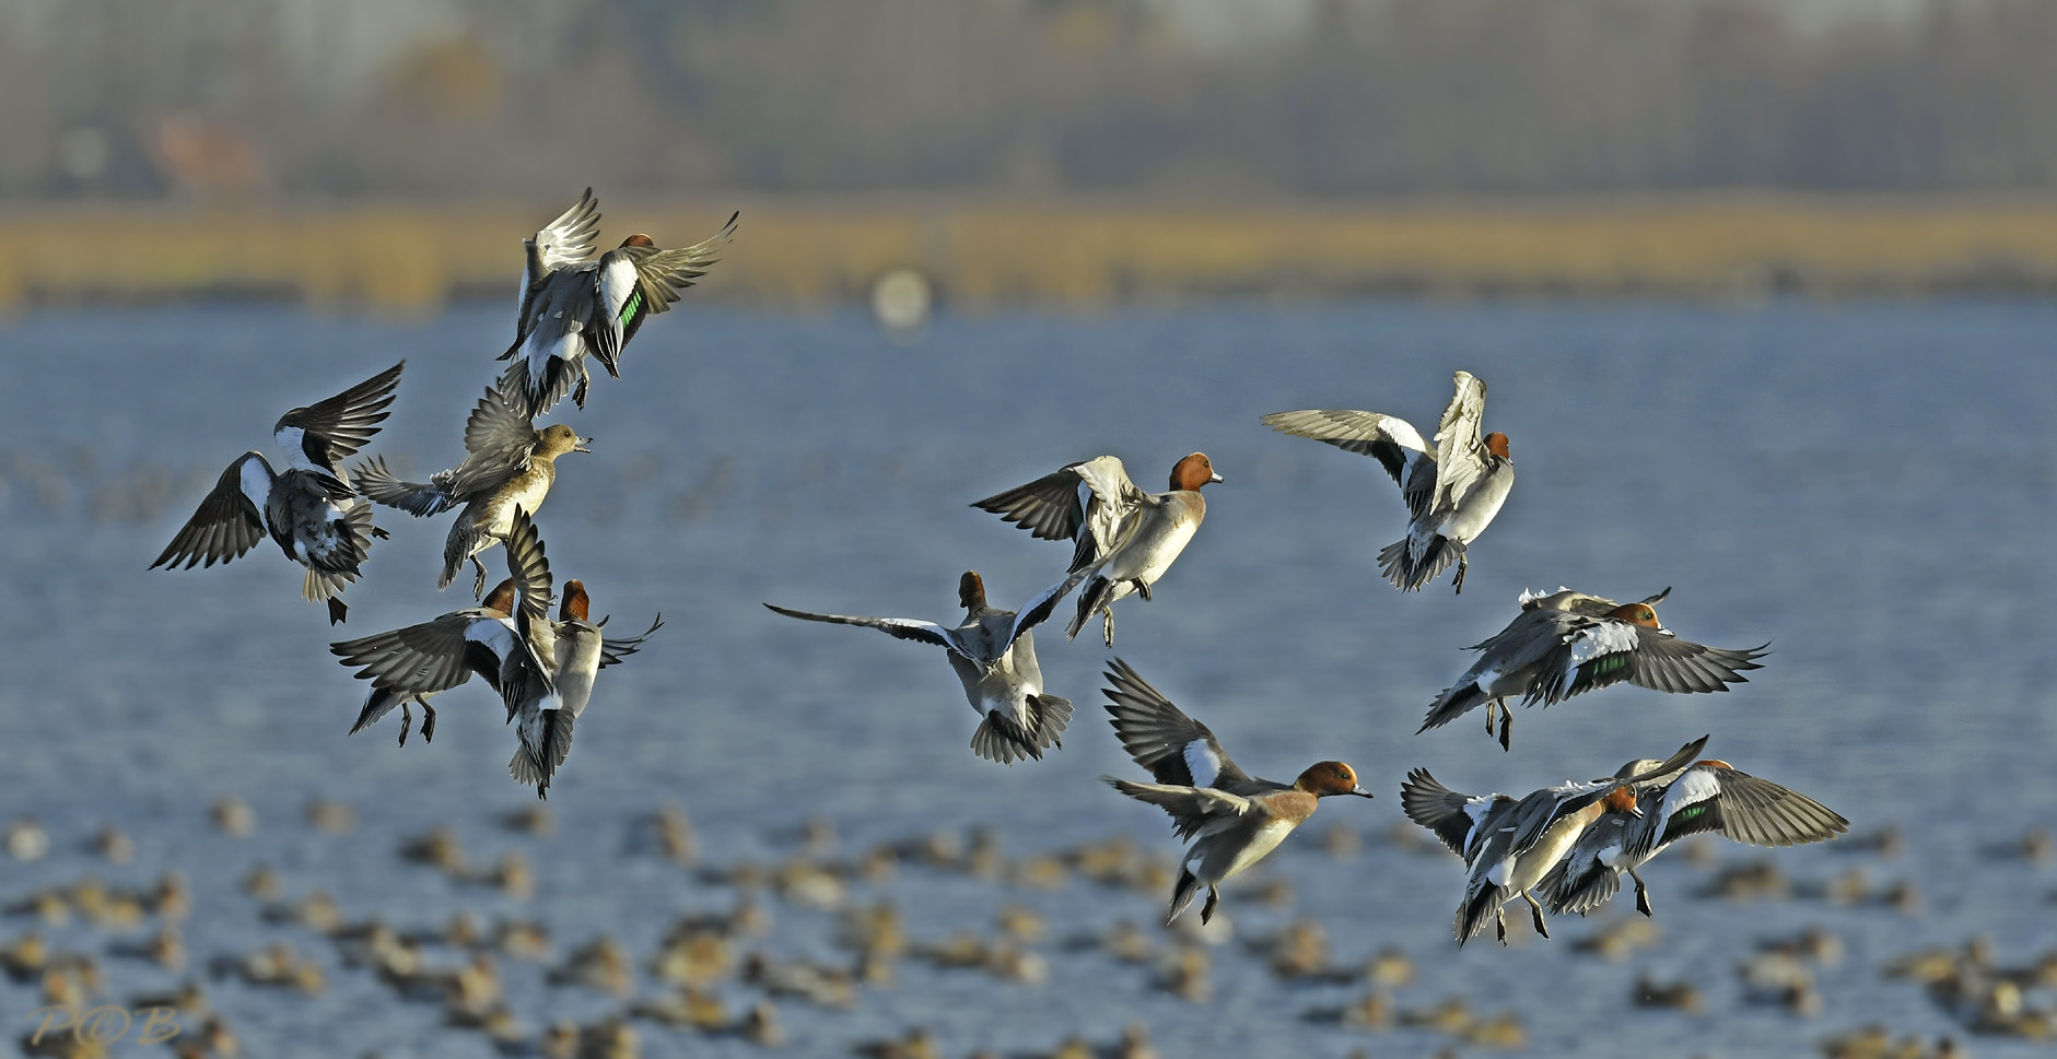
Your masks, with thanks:
<instances>
[{"instance_id":1,"label":"tight left-hand cluster of five flying ducks","mask_svg":"<svg viewBox=\"0 0 2057 1059\"><path fill-rule=\"evenodd\" d=\"M693 286L730 241L736 216L712 239L683 249L658 249L648 234L594 255L599 202L588 187L557 220L522 241L525 267L510 360L465 419L465 459L426 483L401 481L385 457L346 469L378 432L403 364L348 391L296 407L272 428L288 452L280 473L261 452L245 452L222 471L200 510L156 557L154 568L191 570L226 563L272 537L288 559L306 568L302 594L329 607L341 623L344 588L354 582L374 539L372 504L418 518L459 510L444 541L436 588L448 588L465 563L475 570L477 607L450 611L403 629L337 642L331 650L372 683L350 728L362 732L395 705L399 742L424 711L422 738L436 732L432 695L481 677L506 703L518 746L508 763L516 781L547 796L549 781L572 751L572 730L592 699L601 668L636 654L662 625L642 635L607 637L607 619L592 621L580 580L566 580L557 600L535 512L557 477L557 457L590 452L566 424L537 430L535 419L564 397L586 405L590 362L621 376L621 352L644 321L664 313ZM485 592L479 553L502 547L508 578ZM518 724L516 724L518 722Z\"/></svg>"}]
</instances>

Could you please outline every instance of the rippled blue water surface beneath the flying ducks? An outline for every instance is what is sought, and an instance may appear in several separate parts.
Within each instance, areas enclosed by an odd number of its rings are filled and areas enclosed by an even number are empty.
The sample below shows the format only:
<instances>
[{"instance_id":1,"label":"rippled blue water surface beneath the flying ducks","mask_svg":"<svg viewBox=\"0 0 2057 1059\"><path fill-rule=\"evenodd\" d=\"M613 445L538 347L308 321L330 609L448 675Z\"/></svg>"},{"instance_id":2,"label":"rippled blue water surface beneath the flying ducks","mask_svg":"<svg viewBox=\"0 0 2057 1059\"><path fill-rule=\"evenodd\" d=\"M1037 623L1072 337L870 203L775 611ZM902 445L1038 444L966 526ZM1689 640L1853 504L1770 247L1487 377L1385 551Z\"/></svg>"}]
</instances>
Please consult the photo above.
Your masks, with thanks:
<instances>
[{"instance_id":1,"label":"rippled blue water surface beneath the flying ducks","mask_svg":"<svg viewBox=\"0 0 2057 1059\"><path fill-rule=\"evenodd\" d=\"M298 570L272 545L218 570L144 570L220 467L245 448L269 452L282 411L393 360L407 358L407 374L368 450L413 473L455 461L463 415L508 337L504 313L420 325L239 306L19 319L0 329L10 366L0 563L12 586L0 617L10 744L0 818L37 816L56 849L0 860L0 901L88 872L142 884L177 868L195 890L185 925L195 962L286 938L329 971L329 989L311 997L208 983L245 1053L469 1057L492 1049L444 1028L436 1006L395 999L344 966L327 942L263 923L234 880L263 862L288 897L327 888L352 919L428 925L469 907L547 921L560 954L607 932L642 960L675 915L734 901L730 886L642 849L638 823L662 802L691 812L712 864L790 857L808 816L833 823L845 853L983 825L1008 855L1109 835L1170 855L1162 816L1096 781L1135 773L1096 705L1107 656L1096 642L1045 631L1049 689L1080 711L1061 753L1008 769L965 748L975 716L940 652L786 621L759 602L952 619L957 576L979 570L1012 605L1055 580L1068 551L971 500L1098 452L1158 487L1179 454L1201 448L1228 481L1210 487L1207 524L1156 600L1117 609L1117 652L1251 771L1290 777L1341 757L1378 792L1327 802L1310 835L1253 876L1288 880L1288 905L1261 905L1255 886L1226 890L1240 938L1310 917L1341 964L1399 946L1417 962L1399 1008L1463 991L1477 1010L1516 1012L1537 1055L1679 1053L1681 1040L1703 1055L1796 1055L1864 1022L1962 1034L1878 964L1977 932L1997 940L2001 962L2057 946L2057 874L1987 855L2047 825L2057 804L2053 333L2057 308L2043 304L1002 315L944 317L911 341L845 315L666 317L627 352L625 380L597 378L584 413L564 407L597 444L564 459L541 512L551 563L584 578L617 629L640 629L654 611L666 627L605 674L553 786L560 831L537 839L496 827L533 796L506 777L512 736L483 687L440 699L434 744L397 748L393 718L344 736L362 685L325 646L463 602L434 590L446 518L381 510L393 539L348 592L348 629L331 631L298 598ZM1343 405L1432 426L1454 368L1489 382L1487 426L1512 438L1520 477L1473 547L1467 592L1440 580L1401 596L1374 561L1403 526L1376 465L1271 434L1257 415ZM1510 755L1483 718L1413 734L1465 668L1458 648L1497 631L1522 588L1559 584L1617 598L1672 586L1664 619L1681 635L1771 640L1773 654L1730 695L1621 687L1524 711ZM1876 888L1915 884L1921 911L1703 901L1693 890L1707 870L1672 857L1646 872L1660 938L1625 962L1574 952L1594 929L1576 919L1555 942L1458 952L1448 938L1458 862L1384 841L1413 765L1460 790L1524 792L1662 757L1701 732L1713 734L1711 755L1820 798L1857 833L1907 835L1897 857L1775 851L1800 890L1860 868ZM210 827L222 794L257 808L253 837ZM315 796L352 804L356 831L302 827ZM84 849L103 823L134 835L134 864ZM475 862L522 851L537 897L459 886L395 857L403 837L436 823L453 825ZM1316 841L1331 825L1370 841L1333 857ZM1763 855L1716 853L1718 866ZM897 903L915 940L989 932L1002 903L1031 905L1051 927L1037 946L1049 981L905 962L852 1012L782 1003L792 1055L845 1053L909 1024L932 1026L946 1055L1049 1049L1070 1032L1105 1040L1127 1022L1148 1024L1166 1055L1448 1045L1428 1030L1366 1036L1308 1022L1304 1012L1364 987L1279 983L1240 942L1216 950L1207 1006L1152 987L1148 969L1063 946L1121 919L1152 923L1160 894L1078 880L1006 888L907 866L856 899ZM778 925L761 948L845 958L829 942L833 913L769 907ZM1806 923L1847 946L1841 964L1816 971L1825 1012L1800 1020L1744 1003L1734 964L1753 940ZM31 925L0 919L0 940ZM76 923L37 929L60 948L109 944ZM105 964L115 999L177 981L138 960ZM547 987L533 964L504 960L504 973L531 1028L621 1008ZM1631 1008L1639 973L1699 979L1707 1014ZM656 993L648 975L642 991ZM732 1008L757 995L734 983L722 993ZM37 1003L33 983L0 979L0 1030L29 1032ZM656 1055L755 1051L640 1030ZM1609 1034L1604 1047L1594 1032ZM1973 1049L2038 1053L2006 1038Z\"/></svg>"}]
</instances>

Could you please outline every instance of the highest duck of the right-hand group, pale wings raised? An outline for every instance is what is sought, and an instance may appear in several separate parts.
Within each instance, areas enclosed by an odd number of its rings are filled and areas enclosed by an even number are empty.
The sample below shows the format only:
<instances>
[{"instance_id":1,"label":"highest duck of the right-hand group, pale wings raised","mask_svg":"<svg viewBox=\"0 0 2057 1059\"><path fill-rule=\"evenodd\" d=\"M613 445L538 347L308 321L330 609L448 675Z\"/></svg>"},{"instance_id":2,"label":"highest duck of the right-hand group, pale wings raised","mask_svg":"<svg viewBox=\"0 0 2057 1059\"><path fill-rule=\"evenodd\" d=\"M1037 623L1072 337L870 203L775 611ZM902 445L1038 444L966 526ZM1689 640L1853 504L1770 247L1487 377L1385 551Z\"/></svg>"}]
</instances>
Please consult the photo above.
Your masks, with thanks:
<instances>
[{"instance_id":1,"label":"highest duck of the right-hand group, pale wings raised","mask_svg":"<svg viewBox=\"0 0 2057 1059\"><path fill-rule=\"evenodd\" d=\"M1514 487L1506 434L1479 434L1485 382L1456 372L1456 397L1442 411L1436 446L1397 415L1351 409L1273 411L1263 422L1282 434L1314 438L1384 465L1407 500L1407 537L1378 551L1378 570L1401 592L1436 580L1456 561L1465 590L1467 549L1500 514Z\"/></svg>"}]
</instances>

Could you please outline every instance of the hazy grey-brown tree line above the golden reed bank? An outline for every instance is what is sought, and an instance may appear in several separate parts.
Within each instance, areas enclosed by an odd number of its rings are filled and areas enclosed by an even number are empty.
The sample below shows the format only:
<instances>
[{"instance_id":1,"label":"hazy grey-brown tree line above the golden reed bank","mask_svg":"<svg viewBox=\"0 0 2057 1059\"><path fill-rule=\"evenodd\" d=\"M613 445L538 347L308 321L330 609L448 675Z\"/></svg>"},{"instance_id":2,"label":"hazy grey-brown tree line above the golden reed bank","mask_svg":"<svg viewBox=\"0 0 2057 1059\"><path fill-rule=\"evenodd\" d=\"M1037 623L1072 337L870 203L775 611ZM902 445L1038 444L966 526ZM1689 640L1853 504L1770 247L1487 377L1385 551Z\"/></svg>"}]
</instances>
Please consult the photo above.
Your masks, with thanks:
<instances>
[{"instance_id":1,"label":"hazy grey-brown tree line above the golden reed bank","mask_svg":"<svg viewBox=\"0 0 2057 1059\"><path fill-rule=\"evenodd\" d=\"M2053 0L0 0L0 197L2047 189L2053 56Z\"/></svg>"}]
</instances>

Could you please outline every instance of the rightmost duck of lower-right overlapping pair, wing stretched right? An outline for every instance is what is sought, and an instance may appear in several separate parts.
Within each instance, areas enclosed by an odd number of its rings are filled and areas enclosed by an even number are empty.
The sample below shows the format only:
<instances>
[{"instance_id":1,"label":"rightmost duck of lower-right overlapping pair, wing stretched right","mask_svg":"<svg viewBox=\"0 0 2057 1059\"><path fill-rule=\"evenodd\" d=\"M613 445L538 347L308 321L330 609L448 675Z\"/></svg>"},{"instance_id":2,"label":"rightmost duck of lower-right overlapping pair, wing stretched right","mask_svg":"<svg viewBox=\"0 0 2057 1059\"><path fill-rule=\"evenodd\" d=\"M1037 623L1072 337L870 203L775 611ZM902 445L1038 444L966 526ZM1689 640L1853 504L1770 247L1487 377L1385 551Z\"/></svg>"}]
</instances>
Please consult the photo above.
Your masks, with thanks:
<instances>
[{"instance_id":1,"label":"rightmost duck of lower-right overlapping pair, wing stretched right","mask_svg":"<svg viewBox=\"0 0 2057 1059\"><path fill-rule=\"evenodd\" d=\"M1648 769L1629 761L1615 775ZM1635 880L1635 911L1650 915L1650 890L1635 874L1650 857L1693 835L1722 835L1744 845L1800 845L1849 833L1849 820L1820 802L1759 779L1718 759L1695 761L1679 779L1637 792L1637 816L1607 816L1580 835L1537 892L1553 915L1586 915Z\"/></svg>"}]
</instances>

